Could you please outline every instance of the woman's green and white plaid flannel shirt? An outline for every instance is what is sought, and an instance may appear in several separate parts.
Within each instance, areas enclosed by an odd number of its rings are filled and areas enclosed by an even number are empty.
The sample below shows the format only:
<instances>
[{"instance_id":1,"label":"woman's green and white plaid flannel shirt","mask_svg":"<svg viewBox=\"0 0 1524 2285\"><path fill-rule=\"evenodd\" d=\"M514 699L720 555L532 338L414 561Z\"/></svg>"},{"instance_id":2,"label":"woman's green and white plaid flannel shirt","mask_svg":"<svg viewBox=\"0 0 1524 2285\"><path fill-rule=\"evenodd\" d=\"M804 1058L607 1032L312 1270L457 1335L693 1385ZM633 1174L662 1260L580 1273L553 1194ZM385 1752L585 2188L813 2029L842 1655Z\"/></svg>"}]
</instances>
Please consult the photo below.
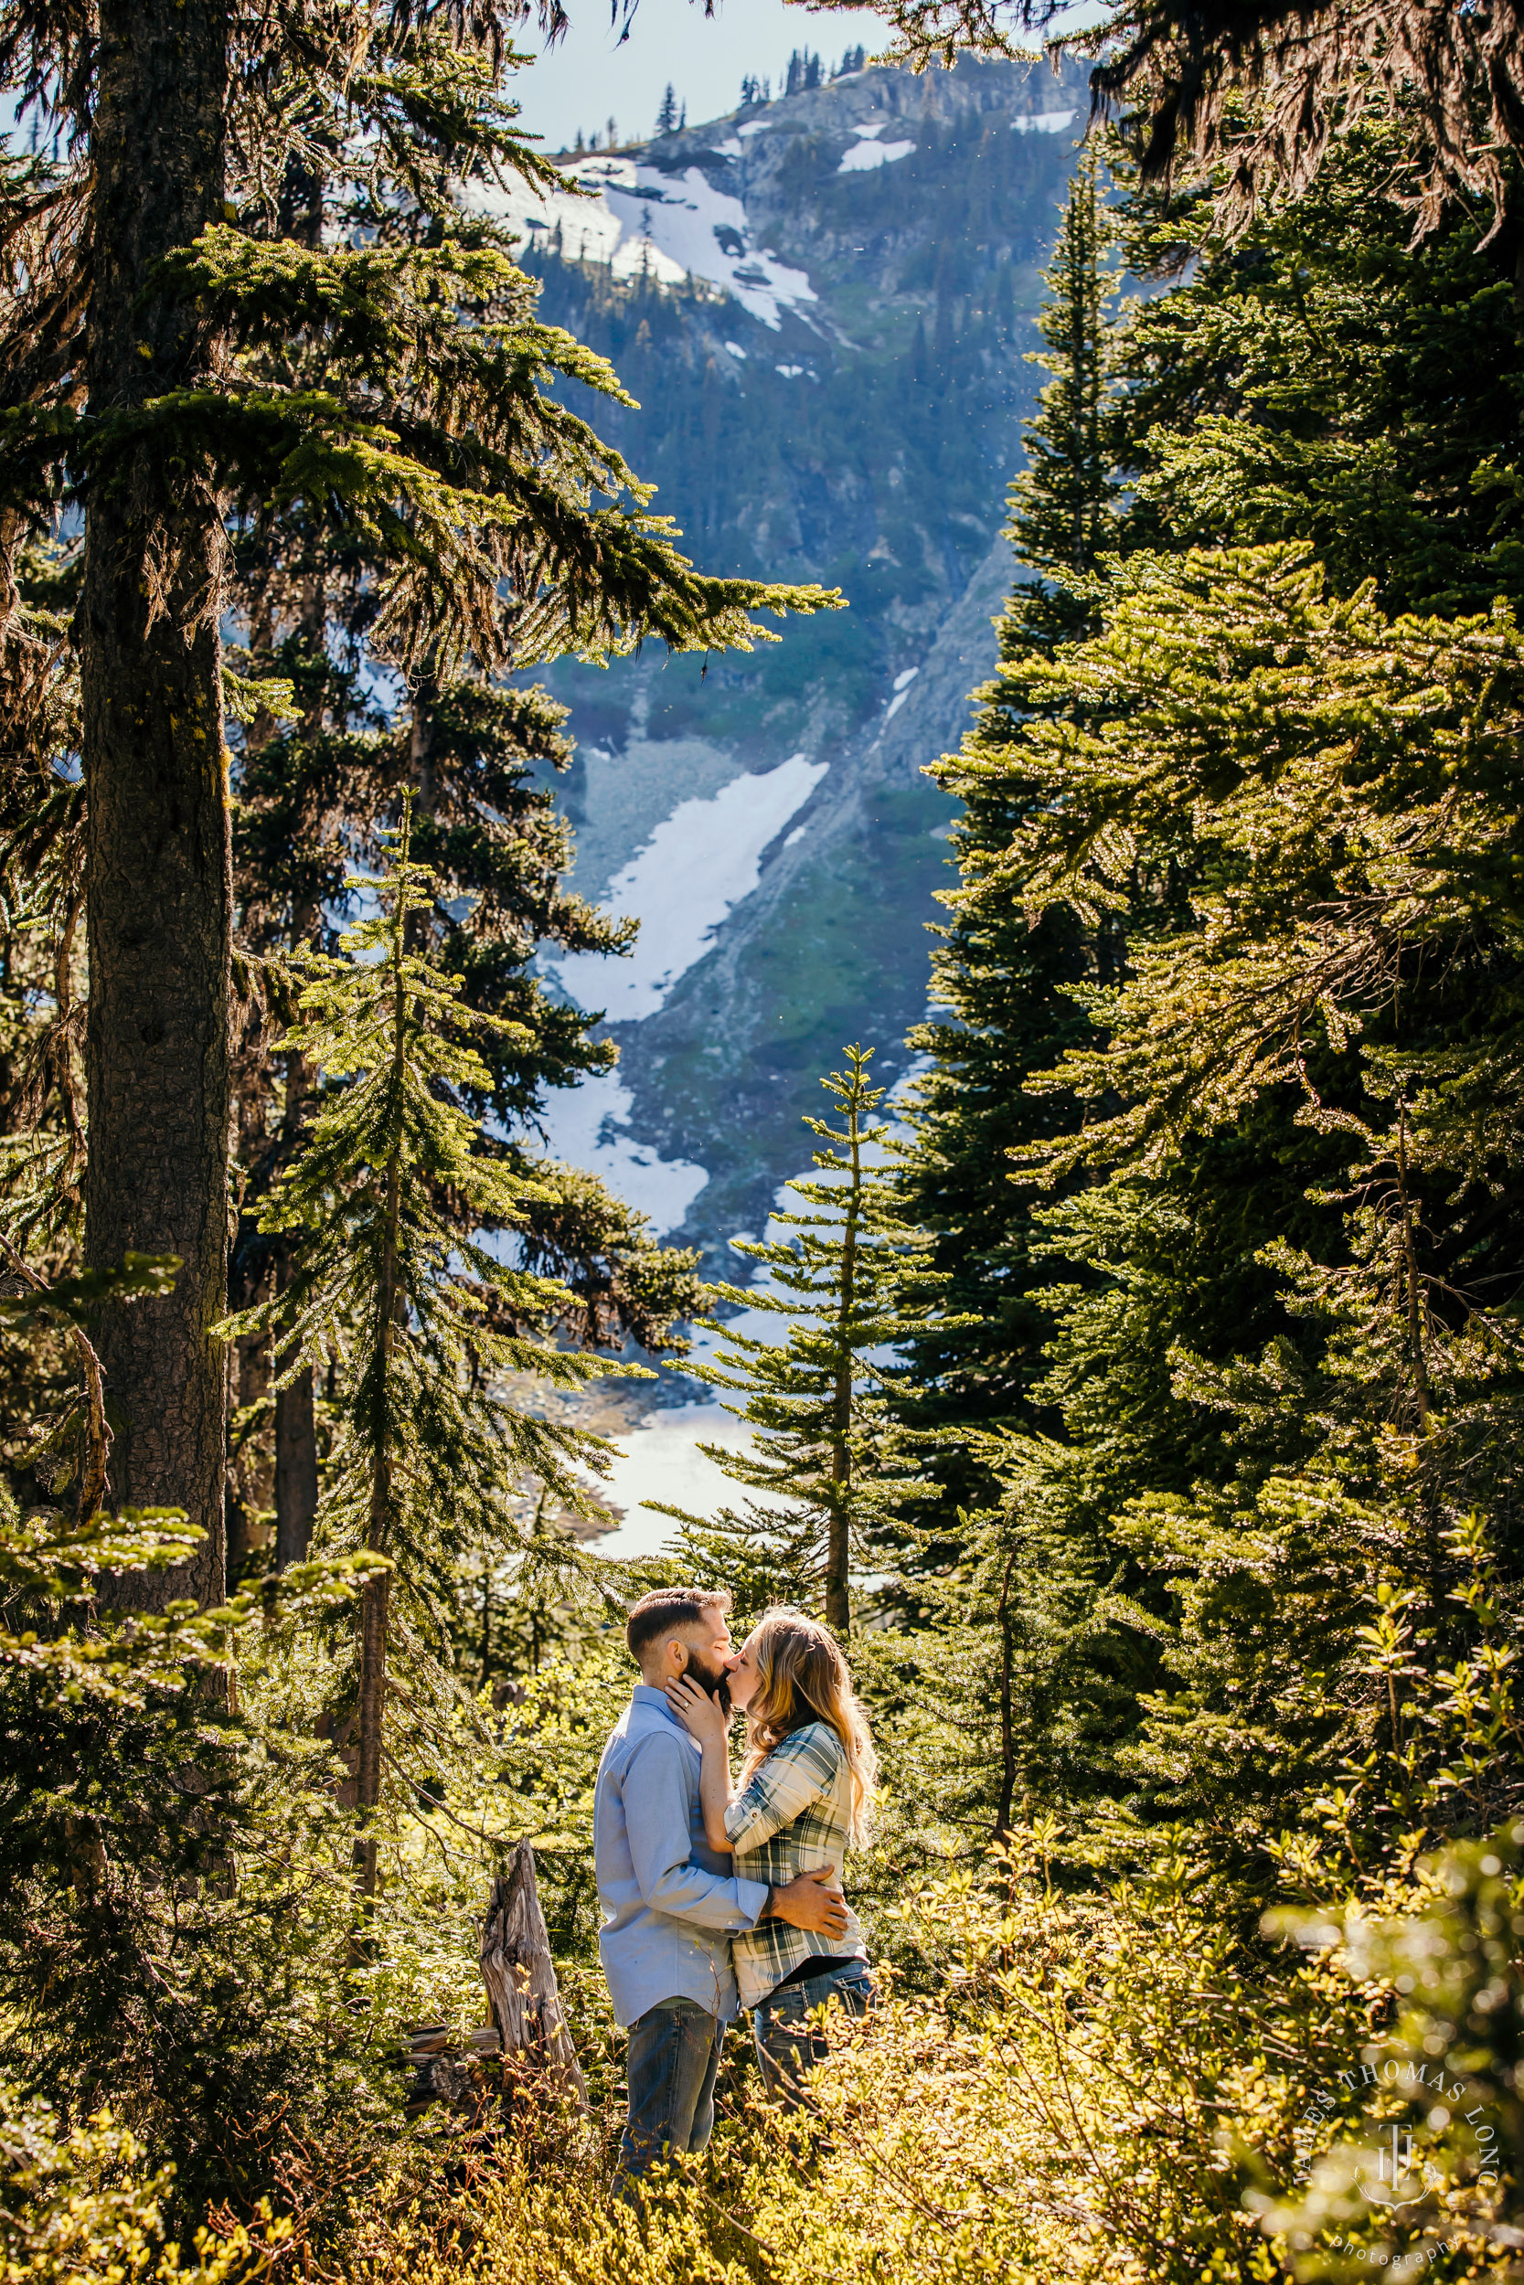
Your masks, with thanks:
<instances>
[{"instance_id":1,"label":"woman's green and white plaid flannel shirt","mask_svg":"<svg viewBox=\"0 0 1524 2285\"><path fill-rule=\"evenodd\" d=\"M775 1746L745 1794L724 1812L738 1881L788 1887L823 1865L843 1869L852 1823L852 1773L829 1723L811 1721ZM759 2006L804 1961L866 1961L857 1915L848 1908L845 1935L816 1935L768 1917L731 1938L740 2004Z\"/></svg>"}]
</instances>

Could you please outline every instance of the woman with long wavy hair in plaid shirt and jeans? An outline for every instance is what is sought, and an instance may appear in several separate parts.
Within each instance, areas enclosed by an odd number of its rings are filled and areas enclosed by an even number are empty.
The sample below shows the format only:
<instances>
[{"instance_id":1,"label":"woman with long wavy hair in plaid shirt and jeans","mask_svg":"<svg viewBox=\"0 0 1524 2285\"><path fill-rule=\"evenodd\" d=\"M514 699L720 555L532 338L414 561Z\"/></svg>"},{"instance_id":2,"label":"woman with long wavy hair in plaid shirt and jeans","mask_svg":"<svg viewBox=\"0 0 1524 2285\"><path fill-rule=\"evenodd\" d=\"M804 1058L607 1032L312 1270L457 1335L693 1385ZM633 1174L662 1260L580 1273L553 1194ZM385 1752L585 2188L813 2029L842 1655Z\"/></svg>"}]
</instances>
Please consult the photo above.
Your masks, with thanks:
<instances>
[{"instance_id":1,"label":"woman with long wavy hair in plaid shirt and jeans","mask_svg":"<svg viewBox=\"0 0 1524 2285\"><path fill-rule=\"evenodd\" d=\"M729 1725L690 1675L667 1684L683 1727L704 1750L699 1798L711 1849L736 1858L743 1881L784 1887L802 1871L839 1867L868 1835L877 1759L841 1650L802 1611L768 1611L727 1675L747 1716L740 1791L731 1794ZM825 2054L811 2011L827 1999L848 2015L873 2004L868 1947L848 1910L841 1938L763 1919L731 1940L740 2004L752 2009L756 2059L770 2095L800 2100L800 2079Z\"/></svg>"}]
</instances>

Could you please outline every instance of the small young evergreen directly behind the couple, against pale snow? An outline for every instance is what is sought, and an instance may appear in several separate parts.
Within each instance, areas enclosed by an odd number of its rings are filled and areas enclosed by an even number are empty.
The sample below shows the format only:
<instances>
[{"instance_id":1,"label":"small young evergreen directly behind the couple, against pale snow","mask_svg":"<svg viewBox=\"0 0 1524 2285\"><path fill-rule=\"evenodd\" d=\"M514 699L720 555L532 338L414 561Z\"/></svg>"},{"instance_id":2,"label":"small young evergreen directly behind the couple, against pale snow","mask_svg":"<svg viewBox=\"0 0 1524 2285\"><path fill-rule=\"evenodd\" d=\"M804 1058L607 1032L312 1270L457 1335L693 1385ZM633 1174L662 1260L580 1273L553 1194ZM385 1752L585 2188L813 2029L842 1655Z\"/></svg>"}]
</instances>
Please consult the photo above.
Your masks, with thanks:
<instances>
[{"instance_id":1,"label":"small young evergreen directly behind the couple, against pale snow","mask_svg":"<svg viewBox=\"0 0 1524 2285\"><path fill-rule=\"evenodd\" d=\"M781 1318L786 1339L711 1321L708 1332L724 1346L713 1364L690 1366L711 1387L745 1398L727 1412L756 1430L752 1451L699 1451L761 1497L711 1526L660 1508L688 1526L685 1552L704 1568L717 1563L729 1584L724 1552L740 1542L743 1570L802 1586L843 1641L855 1558L912 1492L909 1472L887 1453L882 1392L896 1364L884 1353L928 1323L941 1284L889 1195L889 1127L875 1117L884 1090L868 1085L873 1049L848 1047L845 1058L845 1069L820 1081L839 1124L804 1120L825 1145L813 1152L825 1179L788 1184L813 1211L775 1213L775 1227L795 1236L731 1238L765 1277L711 1289L717 1300Z\"/></svg>"}]
</instances>

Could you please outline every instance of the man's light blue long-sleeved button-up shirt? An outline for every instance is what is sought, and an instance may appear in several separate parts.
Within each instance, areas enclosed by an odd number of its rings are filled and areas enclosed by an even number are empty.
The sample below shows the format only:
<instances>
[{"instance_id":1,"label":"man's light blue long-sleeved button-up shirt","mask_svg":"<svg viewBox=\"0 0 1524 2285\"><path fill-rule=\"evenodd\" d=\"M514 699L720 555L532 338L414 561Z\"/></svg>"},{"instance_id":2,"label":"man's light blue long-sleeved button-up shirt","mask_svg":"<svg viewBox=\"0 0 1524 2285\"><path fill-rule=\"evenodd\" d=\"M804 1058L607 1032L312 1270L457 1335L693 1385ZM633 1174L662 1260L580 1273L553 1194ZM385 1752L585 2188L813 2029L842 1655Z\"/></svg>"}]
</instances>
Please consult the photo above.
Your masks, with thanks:
<instances>
[{"instance_id":1,"label":"man's light blue long-sleeved button-up shirt","mask_svg":"<svg viewBox=\"0 0 1524 2285\"><path fill-rule=\"evenodd\" d=\"M740 2009L731 1935L756 1926L768 1887L729 1878L731 1860L704 1839L699 1746L647 1682L599 1762L592 1855L615 2022L635 2022L658 1999L697 1999L729 2022Z\"/></svg>"}]
</instances>

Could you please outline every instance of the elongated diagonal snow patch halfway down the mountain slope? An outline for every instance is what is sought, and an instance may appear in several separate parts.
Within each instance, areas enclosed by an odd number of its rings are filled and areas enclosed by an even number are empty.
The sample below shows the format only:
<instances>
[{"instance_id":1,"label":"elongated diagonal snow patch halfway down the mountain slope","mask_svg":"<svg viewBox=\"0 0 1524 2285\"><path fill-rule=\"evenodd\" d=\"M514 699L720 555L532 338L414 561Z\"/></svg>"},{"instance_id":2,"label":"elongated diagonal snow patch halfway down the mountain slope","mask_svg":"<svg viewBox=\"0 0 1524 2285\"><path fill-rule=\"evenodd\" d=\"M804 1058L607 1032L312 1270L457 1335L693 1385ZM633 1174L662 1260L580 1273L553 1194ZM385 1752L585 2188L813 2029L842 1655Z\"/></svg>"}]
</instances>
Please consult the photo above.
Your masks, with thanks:
<instances>
[{"instance_id":1,"label":"elongated diagonal snow patch halfway down the mountain slope","mask_svg":"<svg viewBox=\"0 0 1524 2285\"><path fill-rule=\"evenodd\" d=\"M580 1008L603 1008L610 1024L656 1015L679 976L711 948L731 907L752 893L763 850L825 770L823 761L791 754L775 770L733 777L711 800L679 802L603 898L617 919L640 921L633 955L569 953L560 962L562 989Z\"/></svg>"}]
</instances>

